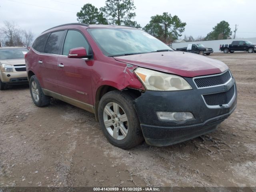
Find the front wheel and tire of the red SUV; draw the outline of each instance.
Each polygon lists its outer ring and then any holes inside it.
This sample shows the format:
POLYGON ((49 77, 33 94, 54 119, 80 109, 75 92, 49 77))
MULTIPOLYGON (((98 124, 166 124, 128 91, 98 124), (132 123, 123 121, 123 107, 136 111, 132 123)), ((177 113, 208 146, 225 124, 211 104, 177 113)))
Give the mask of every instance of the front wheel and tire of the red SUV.
POLYGON ((130 149, 143 141, 133 98, 117 90, 106 93, 99 103, 99 122, 108 141, 119 148, 130 149))

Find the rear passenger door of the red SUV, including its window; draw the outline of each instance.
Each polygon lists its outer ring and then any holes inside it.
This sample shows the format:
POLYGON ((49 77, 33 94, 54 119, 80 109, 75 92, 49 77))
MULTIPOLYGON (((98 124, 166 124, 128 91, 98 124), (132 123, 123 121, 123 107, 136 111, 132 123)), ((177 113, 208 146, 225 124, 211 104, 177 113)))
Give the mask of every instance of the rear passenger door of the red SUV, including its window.
POLYGON ((50 33, 46 41, 44 53, 38 56, 43 88, 56 93, 59 93, 57 59, 60 54, 63 36, 64 30, 50 33))

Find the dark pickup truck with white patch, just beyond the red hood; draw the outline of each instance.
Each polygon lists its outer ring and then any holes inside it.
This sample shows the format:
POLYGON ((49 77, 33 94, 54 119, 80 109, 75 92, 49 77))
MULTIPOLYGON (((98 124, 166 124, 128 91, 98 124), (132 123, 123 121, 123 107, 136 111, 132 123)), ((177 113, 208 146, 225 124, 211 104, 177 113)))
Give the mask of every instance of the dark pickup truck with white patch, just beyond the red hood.
POLYGON ((187 47, 177 48, 176 51, 184 51, 200 55, 210 55, 211 53, 213 53, 212 48, 207 48, 202 44, 188 44, 187 47))

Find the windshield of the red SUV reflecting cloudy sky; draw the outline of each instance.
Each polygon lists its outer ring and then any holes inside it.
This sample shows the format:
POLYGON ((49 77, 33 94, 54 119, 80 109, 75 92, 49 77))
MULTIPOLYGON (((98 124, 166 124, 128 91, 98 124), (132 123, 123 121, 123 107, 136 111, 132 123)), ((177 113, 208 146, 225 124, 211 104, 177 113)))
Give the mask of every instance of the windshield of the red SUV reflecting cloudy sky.
POLYGON ((156 51, 173 51, 157 38, 138 29, 88 29, 106 56, 121 56, 156 51))

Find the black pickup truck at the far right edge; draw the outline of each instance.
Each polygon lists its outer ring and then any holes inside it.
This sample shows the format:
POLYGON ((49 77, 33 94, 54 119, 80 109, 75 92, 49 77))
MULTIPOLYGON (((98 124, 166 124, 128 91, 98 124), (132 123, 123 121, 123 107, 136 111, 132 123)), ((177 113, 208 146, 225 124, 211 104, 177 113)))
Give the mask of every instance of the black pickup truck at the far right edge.
POLYGON ((250 41, 233 41, 231 44, 220 44, 220 51, 234 53, 235 51, 248 51, 256 53, 256 44, 250 41))

